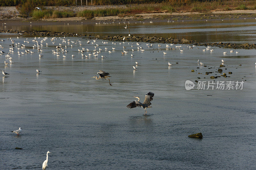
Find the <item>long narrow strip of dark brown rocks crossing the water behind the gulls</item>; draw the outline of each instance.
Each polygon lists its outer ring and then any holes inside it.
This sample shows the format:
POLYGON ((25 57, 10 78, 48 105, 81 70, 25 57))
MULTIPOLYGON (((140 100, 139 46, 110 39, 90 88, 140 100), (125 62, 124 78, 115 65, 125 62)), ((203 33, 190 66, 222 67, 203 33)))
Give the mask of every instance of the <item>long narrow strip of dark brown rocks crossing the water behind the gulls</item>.
POLYGON ((133 42, 148 42, 148 43, 165 43, 165 44, 193 44, 196 46, 216 46, 220 48, 234 48, 234 49, 256 49, 256 44, 232 44, 232 43, 200 43, 196 40, 188 40, 188 39, 174 39, 172 37, 162 38, 162 37, 147 37, 147 36, 91 36, 86 34, 77 34, 77 33, 66 33, 66 32, 50 32, 50 31, 18 31, 18 30, 0 30, 0 33, 14 33, 14 34, 23 34, 23 35, 32 35, 32 36, 40 36, 40 37, 82 37, 88 39, 102 39, 109 41, 133 41, 133 42))

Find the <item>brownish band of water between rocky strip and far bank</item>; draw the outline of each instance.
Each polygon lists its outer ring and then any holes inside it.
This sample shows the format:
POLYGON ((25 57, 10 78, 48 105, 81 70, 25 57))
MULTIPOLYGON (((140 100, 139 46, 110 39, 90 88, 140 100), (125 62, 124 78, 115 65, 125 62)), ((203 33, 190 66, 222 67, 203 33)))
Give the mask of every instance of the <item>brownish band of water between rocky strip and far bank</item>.
MULTIPOLYGON (((131 21, 129 29, 131 35, 143 35, 143 36, 158 36, 158 37, 173 37, 177 39, 196 40, 199 42, 230 42, 230 43, 255 43, 256 38, 256 20, 253 18, 245 19, 214 19, 214 20, 177 20, 170 22, 164 20, 158 20, 158 22, 150 23, 150 20, 146 21, 131 21), (217 29, 217 34, 216 34, 217 29)), ((111 21, 99 21, 99 24, 95 24, 92 21, 90 24, 84 24, 85 21, 69 22, 62 21, 56 23, 50 23, 45 21, 32 21, 31 23, 24 22, 10 22, 7 24, 1 24, 1 30, 48 30, 54 32, 76 32, 83 34, 94 35, 128 35, 128 28, 124 29, 124 26, 128 26, 128 21, 116 20, 111 21), (120 23, 120 24, 119 24, 120 23), (68 25, 69 24, 69 25, 68 25)))

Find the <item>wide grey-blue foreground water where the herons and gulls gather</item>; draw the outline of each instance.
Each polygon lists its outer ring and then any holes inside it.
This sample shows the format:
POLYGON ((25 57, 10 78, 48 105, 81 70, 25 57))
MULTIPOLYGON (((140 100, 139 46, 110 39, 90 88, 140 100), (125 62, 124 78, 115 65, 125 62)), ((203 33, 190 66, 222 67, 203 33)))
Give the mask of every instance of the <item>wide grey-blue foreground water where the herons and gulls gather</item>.
MULTIPOLYGON (((145 49, 141 52, 136 50, 136 43, 131 47, 131 42, 113 45, 97 40, 100 48, 108 50, 86 59, 77 49, 88 48, 90 52, 85 54, 92 53, 95 44, 80 39, 82 46, 67 45, 69 52, 63 59, 63 54, 58 58, 52 53, 61 40, 57 38, 50 46, 48 38, 45 42, 49 46, 43 43, 44 56, 39 59, 40 52, 32 49, 33 38, 28 38, 28 44, 23 42, 26 38, 16 37, 16 43, 25 44, 35 53, 19 57, 19 46, 15 46, 10 54, 15 63, 6 67, 2 64, 10 75, 2 77, 0 89, 1 168, 42 168, 48 150, 52 152, 49 169, 256 168, 255 50, 229 53, 231 49, 213 47, 213 52, 203 52, 203 46, 188 49, 183 45, 184 52, 180 53, 177 48, 166 50, 164 44, 160 51, 157 44, 148 48, 141 43, 145 49), (113 46, 116 49, 108 53, 113 46), (129 53, 122 56, 123 46, 129 53), (101 59, 101 55, 106 58, 101 59), (207 67, 199 66, 198 59, 207 67), (246 80, 242 90, 185 89, 186 80, 212 81, 211 74, 204 74, 206 71, 220 75, 215 71, 221 59, 226 60, 224 73, 233 74, 215 81, 246 80), (141 63, 136 71, 132 68, 135 61, 141 63), (42 74, 36 74, 36 69, 42 74), (90 78, 98 70, 110 73, 113 86, 90 78), (148 116, 143 116, 142 108, 126 108, 133 96, 143 100, 149 91, 155 96, 152 108, 147 109, 148 116), (10 132, 19 127, 23 128, 20 136, 10 132), (204 138, 188 138, 197 132, 202 132, 204 138)), ((3 51, 8 52, 10 40, 2 39, 6 40, 0 41, 3 51)), ((0 63, 4 60, 3 54, 0 63)))

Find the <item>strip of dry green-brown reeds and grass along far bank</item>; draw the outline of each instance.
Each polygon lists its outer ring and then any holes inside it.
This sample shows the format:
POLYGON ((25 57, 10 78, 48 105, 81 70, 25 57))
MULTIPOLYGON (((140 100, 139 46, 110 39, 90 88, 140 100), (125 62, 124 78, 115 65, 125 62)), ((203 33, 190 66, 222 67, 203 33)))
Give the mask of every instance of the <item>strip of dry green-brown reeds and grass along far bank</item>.
MULTIPOLYGON (((67 0, 68 1, 68 0, 67 0)), ((256 9, 256 0, 252 1, 192 1, 188 4, 172 4, 161 2, 158 4, 127 5, 125 8, 108 8, 96 10, 84 10, 79 12, 54 11, 54 10, 34 10, 36 6, 33 0, 29 0, 20 7, 20 13, 31 15, 35 19, 39 18, 66 18, 66 17, 106 17, 106 16, 127 16, 139 13, 153 12, 209 12, 211 10, 248 10, 256 9), (33 10, 33 11, 32 11, 33 10), (32 12, 31 12, 32 11, 32 12)), ((96 1, 98 2, 98 1, 96 1)), ((102 1, 103 2, 103 1, 102 1)), ((105 1, 104 1, 105 2, 105 1)), ((114 2, 114 1, 113 1, 114 2)), ((125 1, 126 2, 126 1, 125 1)), ((142 1, 140 1, 142 2, 142 1)), ((151 2, 151 1, 148 1, 151 2)), ((121 3, 122 4, 122 3, 121 3)))

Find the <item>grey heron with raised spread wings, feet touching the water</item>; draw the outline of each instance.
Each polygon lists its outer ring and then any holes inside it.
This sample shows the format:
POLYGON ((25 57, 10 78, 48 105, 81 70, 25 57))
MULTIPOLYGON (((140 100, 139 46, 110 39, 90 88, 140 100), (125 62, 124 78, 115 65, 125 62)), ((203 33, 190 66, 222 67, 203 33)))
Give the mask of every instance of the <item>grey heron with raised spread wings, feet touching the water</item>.
MULTIPOLYGON (((133 96, 135 97, 135 96, 133 96)), ((150 101, 153 100, 153 97, 154 97, 154 93, 152 92, 148 92, 148 94, 145 96, 145 99, 144 99, 144 102, 143 103, 140 103, 140 97, 135 97, 137 99, 139 99, 138 101, 133 101, 132 103, 128 104, 126 107, 132 109, 132 108, 135 108, 135 107, 143 107, 143 109, 145 110, 145 113, 143 115, 146 115, 148 113, 147 109, 146 108, 150 108, 150 101)))

